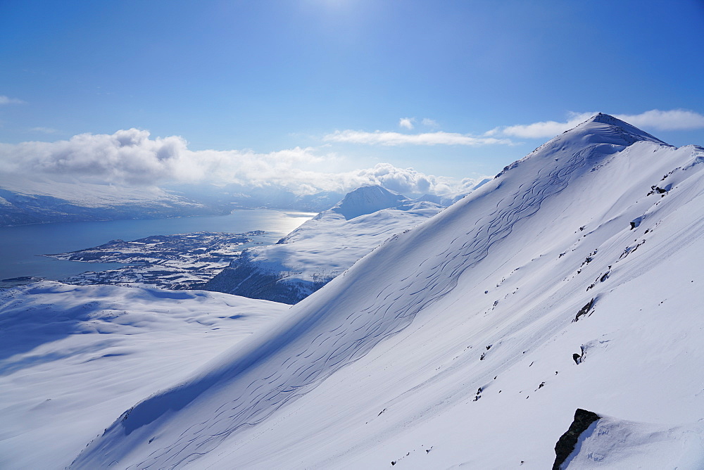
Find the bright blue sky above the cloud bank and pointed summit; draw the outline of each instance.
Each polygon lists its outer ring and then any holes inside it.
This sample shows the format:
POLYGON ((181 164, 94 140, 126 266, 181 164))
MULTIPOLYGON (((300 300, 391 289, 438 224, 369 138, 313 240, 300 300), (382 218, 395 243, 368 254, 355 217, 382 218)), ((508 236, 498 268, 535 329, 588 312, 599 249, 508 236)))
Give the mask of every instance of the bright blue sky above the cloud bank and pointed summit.
POLYGON ((688 0, 3 1, 0 142, 136 128, 458 179, 596 111, 704 144, 703 30, 688 0))

